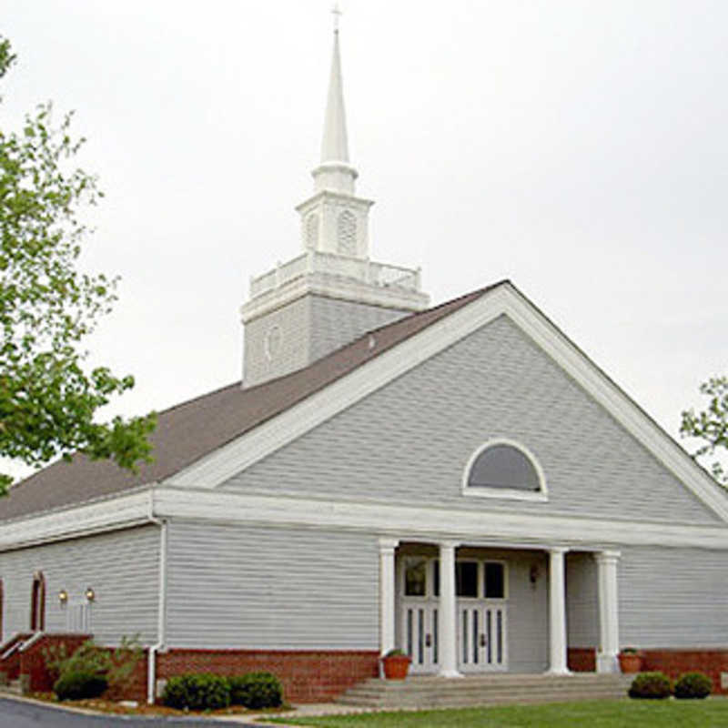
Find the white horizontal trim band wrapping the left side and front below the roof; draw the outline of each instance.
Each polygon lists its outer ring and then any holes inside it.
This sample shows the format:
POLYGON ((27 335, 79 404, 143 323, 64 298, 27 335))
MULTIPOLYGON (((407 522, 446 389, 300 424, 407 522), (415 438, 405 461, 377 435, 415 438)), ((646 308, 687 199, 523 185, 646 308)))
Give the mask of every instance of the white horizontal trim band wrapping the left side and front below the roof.
POLYGON ((586 551, 602 551, 614 545, 728 551, 728 528, 724 526, 480 512, 174 487, 150 488, 8 522, 0 530, 0 551, 158 523, 164 518, 359 531, 397 541, 457 541, 469 546, 548 549, 558 543, 586 551))

